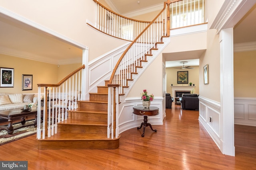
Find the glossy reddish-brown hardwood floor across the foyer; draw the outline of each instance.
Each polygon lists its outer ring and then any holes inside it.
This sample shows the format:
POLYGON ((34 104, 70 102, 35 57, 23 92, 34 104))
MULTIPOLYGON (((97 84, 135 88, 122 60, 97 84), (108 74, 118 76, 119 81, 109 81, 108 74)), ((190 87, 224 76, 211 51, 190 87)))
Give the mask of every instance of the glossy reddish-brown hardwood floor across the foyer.
POLYGON ((235 125, 236 156, 227 156, 198 115, 173 103, 157 132, 129 129, 114 150, 38 150, 32 135, 0 146, 0 160, 28 160, 29 170, 256 170, 256 127, 235 125))

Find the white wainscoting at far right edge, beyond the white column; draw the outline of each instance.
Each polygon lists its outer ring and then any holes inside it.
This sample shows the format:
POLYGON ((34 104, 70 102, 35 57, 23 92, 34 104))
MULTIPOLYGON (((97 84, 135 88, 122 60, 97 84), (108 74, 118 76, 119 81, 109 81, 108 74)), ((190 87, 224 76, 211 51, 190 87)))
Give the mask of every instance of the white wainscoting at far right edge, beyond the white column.
POLYGON ((256 98, 234 98, 234 123, 256 126, 256 98))

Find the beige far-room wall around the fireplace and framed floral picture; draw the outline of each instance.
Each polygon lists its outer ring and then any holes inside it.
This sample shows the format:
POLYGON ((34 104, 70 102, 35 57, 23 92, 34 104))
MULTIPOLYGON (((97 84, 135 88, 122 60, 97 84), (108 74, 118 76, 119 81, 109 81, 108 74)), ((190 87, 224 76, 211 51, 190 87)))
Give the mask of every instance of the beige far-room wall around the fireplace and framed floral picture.
MULTIPOLYGON (((172 94, 172 87, 173 86, 188 86, 189 84, 177 84, 177 71, 188 71, 188 83, 192 82, 195 84, 195 92, 196 94, 199 94, 199 66, 192 66, 194 69, 184 69, 184 70, 178 70, 175 68, 166 68, 166 75, 167 75, 167 93, 172 94)), ((172 96, 174 97, 174 96, 172 96)))

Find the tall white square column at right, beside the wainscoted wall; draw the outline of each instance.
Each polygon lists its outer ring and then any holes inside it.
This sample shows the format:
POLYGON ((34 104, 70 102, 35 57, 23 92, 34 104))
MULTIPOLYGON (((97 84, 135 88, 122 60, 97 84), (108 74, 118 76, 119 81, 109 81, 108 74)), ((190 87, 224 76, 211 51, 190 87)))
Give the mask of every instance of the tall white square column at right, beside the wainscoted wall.
POLYGON ((233 28, 220 31, 220 150, 235 156, 233 28))

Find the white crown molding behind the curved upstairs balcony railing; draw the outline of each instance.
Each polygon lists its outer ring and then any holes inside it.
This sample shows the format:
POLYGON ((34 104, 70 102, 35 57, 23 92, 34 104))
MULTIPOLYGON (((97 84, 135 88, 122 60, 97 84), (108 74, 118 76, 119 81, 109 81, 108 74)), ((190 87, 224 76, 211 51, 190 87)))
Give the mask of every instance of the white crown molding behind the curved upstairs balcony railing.
POLYGON ((139 15, 142 15, 142 14, 147 14, 148 12, 162 10, 163 8, 164 8, 163 7, 163 3, 160 3, 160 4, 153 5, 153 6, 149 6, 147 8, 141 8, 140 10, 135 10, 135 11, 132 11, 132 12, 127 12, 127 13, 124 13, 122 15, 126 16, 128 18, 131 18, 131 17, 134 17, 134 16, 139 16, 139 15))

